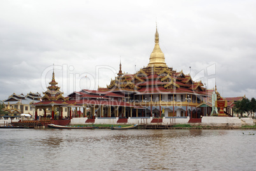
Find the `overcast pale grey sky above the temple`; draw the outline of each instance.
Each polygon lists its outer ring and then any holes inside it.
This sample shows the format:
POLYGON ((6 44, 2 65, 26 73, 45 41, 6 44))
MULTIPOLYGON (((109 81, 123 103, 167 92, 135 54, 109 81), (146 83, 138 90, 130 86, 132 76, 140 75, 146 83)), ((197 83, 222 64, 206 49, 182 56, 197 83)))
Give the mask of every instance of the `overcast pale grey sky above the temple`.
POLYGON ((106 87, 149 62, 155 26, 166 64, 224 97, 256 97, 256 1, 0 1, 0 99, 106 87), (85 78, 85 76, 87 76, 85 78))

